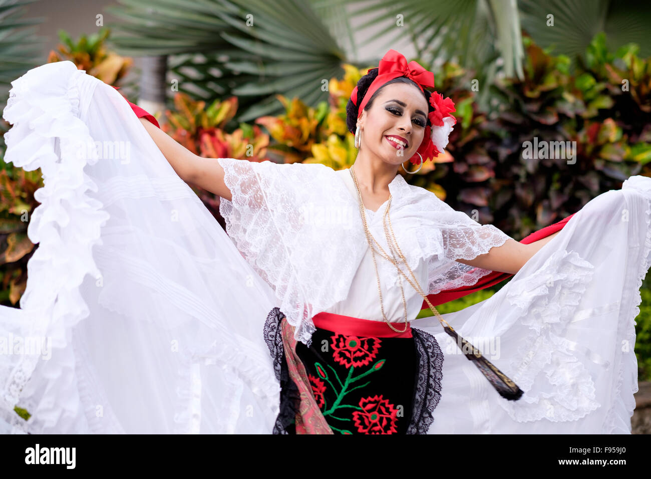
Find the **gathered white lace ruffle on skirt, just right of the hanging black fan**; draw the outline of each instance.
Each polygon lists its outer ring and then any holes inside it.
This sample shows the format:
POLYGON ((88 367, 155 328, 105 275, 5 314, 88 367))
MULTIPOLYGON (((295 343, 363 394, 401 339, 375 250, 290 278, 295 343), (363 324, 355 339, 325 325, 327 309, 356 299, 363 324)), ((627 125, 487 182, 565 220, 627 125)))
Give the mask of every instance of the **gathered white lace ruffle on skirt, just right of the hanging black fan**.
POLYGON ((518 349, 521 359, 512 361, 509 374, 525 393, 518 403, 500 401, 514 420, 573 421, 599 407, 592 377, 563 340, 593 269, 576 252, 558 250, 538 274, 510 285, 506 298, 519 309, 519 321, 530 330, 518 349), (553 392, 528 394, 542 373, 553 392))

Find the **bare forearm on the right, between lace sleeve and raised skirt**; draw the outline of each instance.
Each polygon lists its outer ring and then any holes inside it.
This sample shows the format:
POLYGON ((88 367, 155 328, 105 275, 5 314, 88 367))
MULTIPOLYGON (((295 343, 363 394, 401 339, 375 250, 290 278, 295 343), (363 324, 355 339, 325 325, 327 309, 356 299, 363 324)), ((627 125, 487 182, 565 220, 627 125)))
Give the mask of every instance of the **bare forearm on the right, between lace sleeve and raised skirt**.
POLYGON ((514 239, 508 239, 502 246, 491 248, 486 254, 478 255, 469 260, 457 259, 456 261, 464 263, 464 265, 482 269, 516 274, 540 248, 560 232, 557 231, 553 235, 549 235, 530 244, 523 244, 514 239))

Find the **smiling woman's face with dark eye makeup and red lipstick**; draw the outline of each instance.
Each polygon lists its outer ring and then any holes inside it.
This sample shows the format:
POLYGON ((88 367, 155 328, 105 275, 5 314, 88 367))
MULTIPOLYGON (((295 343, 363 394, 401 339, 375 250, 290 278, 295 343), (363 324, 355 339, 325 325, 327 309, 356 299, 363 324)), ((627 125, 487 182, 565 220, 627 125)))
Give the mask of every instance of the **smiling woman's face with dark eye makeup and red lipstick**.
POLYGON ((386 85, 357 120, 361 149, 399 166, 421 145, 427 124, 428 105, 422 92, 408 83, 386 85), (393 139, 391 139, 393 137, 393 139), (402 140, 404 145, 399 141, 402 140))

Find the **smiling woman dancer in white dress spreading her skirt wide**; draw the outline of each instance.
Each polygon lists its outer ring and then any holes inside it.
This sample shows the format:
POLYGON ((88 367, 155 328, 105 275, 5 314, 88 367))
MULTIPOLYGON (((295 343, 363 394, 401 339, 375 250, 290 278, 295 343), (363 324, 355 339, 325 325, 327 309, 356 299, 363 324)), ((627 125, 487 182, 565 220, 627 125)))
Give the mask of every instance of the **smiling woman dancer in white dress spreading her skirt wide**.
POLYGON ((53 344, 44 361, 3 357, 5 421, 30 432, 630 432, 651 181, 631 177, 555 237, 518 243, 396 175, 445 147, 427 130, 449 133, 451 115, 426 92, 430 72, 393 50, 383 61, 353 92, 360 150, 342 171, 199 158, 70 62, 12 82, 6 160, 41 167, 46 186, 27 291, 21 310, 2 308, 3 331, 53 344), (222 197, 230 239, 186 182, 222 197), (468 361, 438 316, 410 324, 424 295, 492 270, 515 276, 442 317, 506 381, 468 361), (508 380, 513 400, 499 390, 508 380), (33 414, 26 424, 16 404, 33 414))

